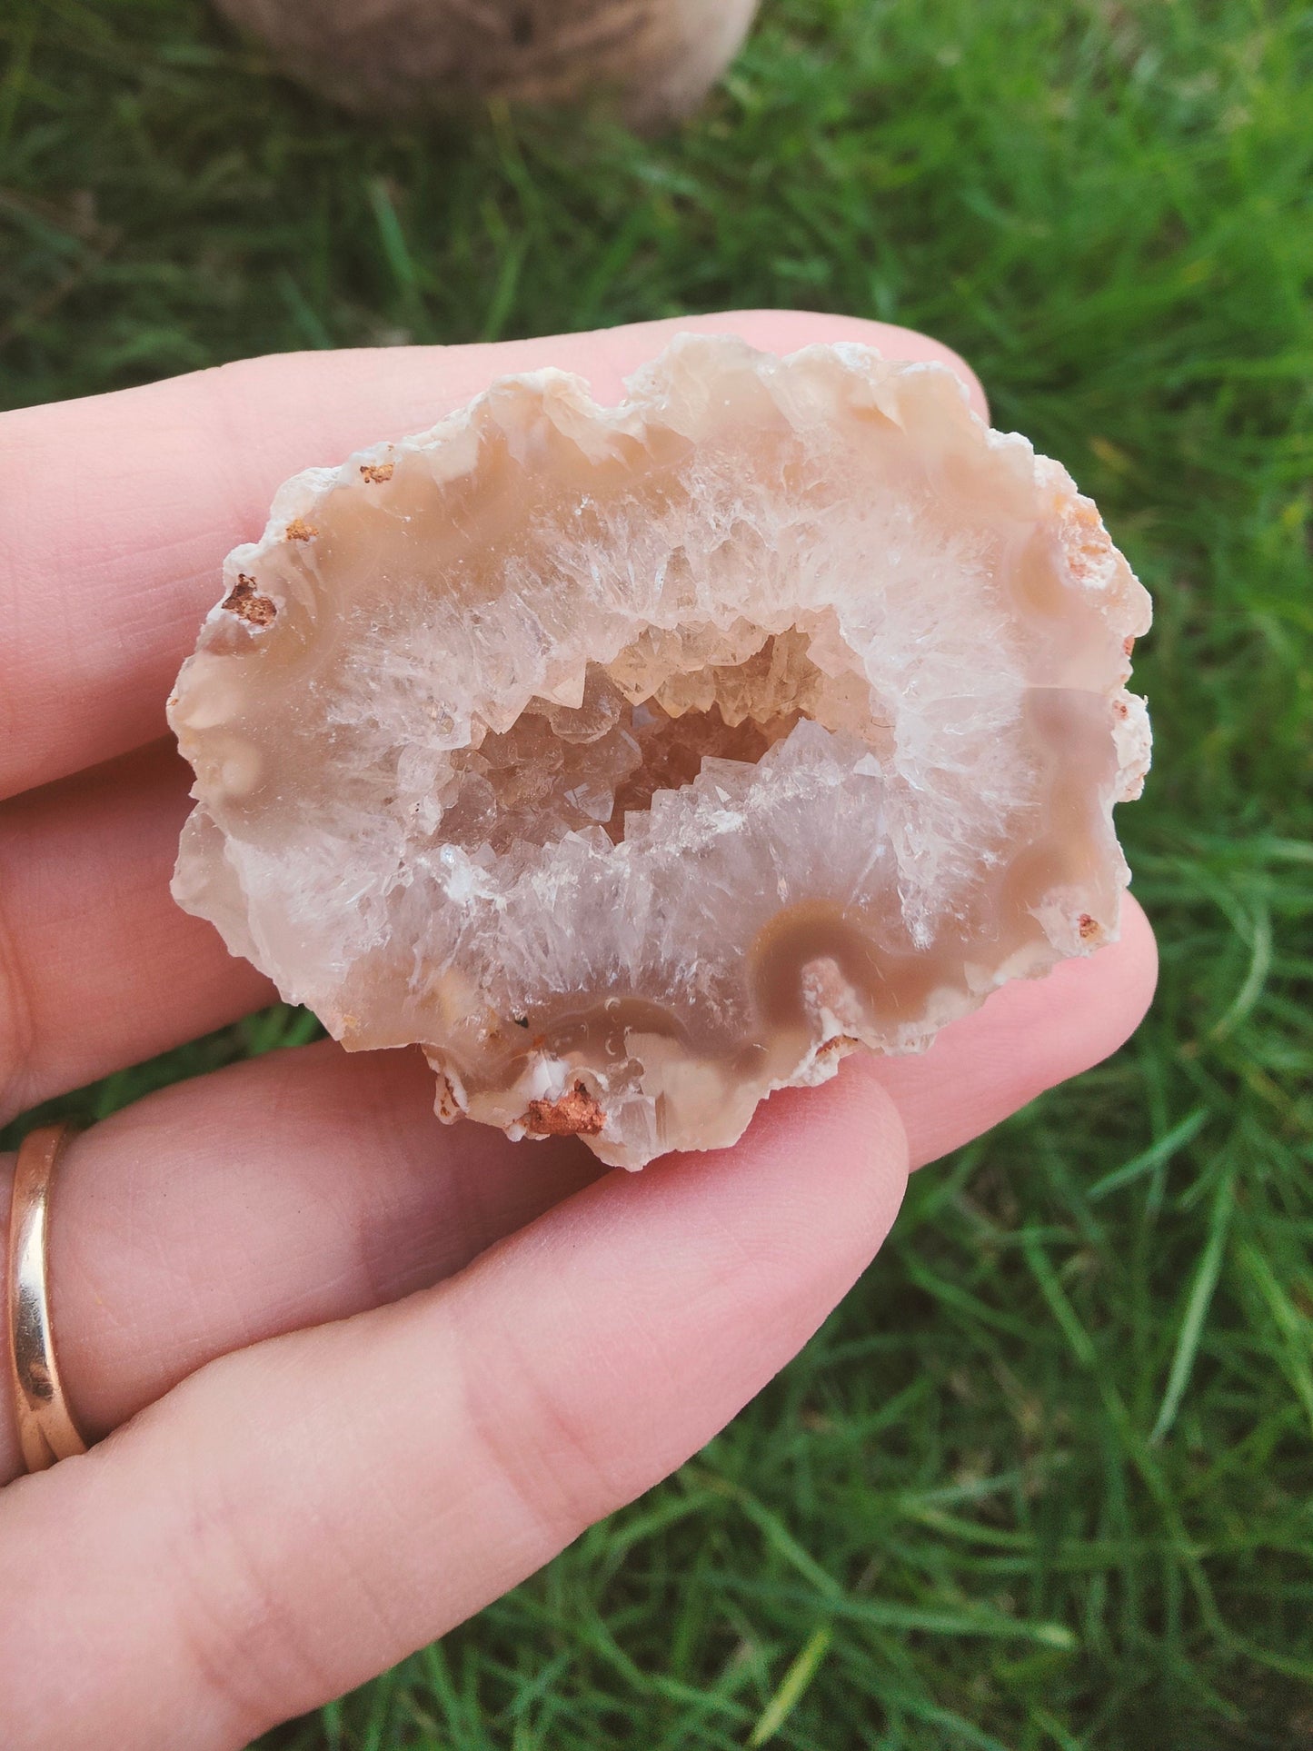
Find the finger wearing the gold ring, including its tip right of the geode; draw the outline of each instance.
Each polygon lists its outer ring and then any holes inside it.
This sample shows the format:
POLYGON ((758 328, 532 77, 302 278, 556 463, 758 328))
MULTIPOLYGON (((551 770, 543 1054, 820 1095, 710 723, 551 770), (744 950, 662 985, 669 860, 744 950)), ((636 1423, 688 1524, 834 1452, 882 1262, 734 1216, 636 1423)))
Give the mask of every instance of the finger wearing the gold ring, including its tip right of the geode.
MULTIPOLYGON (((1119 944, 1007 986, 921 1059, 853 1061, 844 1079, 884 1086, 921 1164, 1113 1051, 1152 986, 1127 900, 1119 944)), ((215 1355, 450 1276, 597 1173, 574 1142, 445 1129, 417 1052, 322 1042, 163 1089, 60 1166, 51 1285, 74 1411, 103 1434, 215 1355)), ((0 1233, 7 1187, 0 1161, 0 1233)), ((0 1397, 4 1481, 18 1438, 0 1397)))

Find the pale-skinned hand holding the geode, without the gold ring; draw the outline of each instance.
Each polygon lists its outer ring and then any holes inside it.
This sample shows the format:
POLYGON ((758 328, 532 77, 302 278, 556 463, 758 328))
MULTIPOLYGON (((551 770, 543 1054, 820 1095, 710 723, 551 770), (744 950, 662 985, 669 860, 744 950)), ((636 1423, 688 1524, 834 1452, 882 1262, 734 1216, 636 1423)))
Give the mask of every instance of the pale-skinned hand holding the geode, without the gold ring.
MULTIPOLYGON (((257 359, 0 417, 0 1122, 275 995, 170 900, 191 774, 163 720, 273 489, 504 371, 613 399, 678 327, 942 359, 986 410, 924 336, 755 312, 257 359)), ((18 1476, 0 1376, 5 1746, 238 1747, 478 1611, 697 1452, 867 1268, 909 1170, 1105 1058, 1154 975, 1127 898, 1120 942, 924 1058, 851 1059, 735 1149, 639 1175, 445 1129, 417 1054, 331 1042, 84 1133, 51 1292, 98 1445, 18 1476)))

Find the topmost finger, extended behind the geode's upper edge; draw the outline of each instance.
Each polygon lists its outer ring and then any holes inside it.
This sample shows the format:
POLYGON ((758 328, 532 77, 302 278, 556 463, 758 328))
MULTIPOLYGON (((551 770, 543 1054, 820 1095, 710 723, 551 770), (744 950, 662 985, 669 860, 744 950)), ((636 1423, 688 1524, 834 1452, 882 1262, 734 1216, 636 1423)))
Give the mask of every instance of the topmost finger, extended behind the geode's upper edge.
POLYGON ((910 329, 795 310, 639 322, 593 334, 249 359, 145 389, 0 415, 0 797, 166 732, 165 699, 219 595, 219 567, 303 468, 424 431, 494 376, 548 364, 600 401, 681 329, 770 352, 860 340, 966 364, 910 329))

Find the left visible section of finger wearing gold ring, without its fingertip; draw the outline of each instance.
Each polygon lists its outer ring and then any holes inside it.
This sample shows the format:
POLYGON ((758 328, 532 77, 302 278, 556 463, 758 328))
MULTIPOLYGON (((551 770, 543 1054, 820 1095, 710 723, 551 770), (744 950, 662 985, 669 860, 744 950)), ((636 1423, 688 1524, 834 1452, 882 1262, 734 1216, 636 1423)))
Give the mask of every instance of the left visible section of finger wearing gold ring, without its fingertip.
MULTIPOLYGON (((448 1276, 599 1171, 571 1140, 445 1128, 418 1052, 326 1040, 138 1101, 67 1145, 53 1196, 53 1324, 82 1434, 215 1355, 448 1276)), ((21 1462, 0 1399, 4 1483, 21 1462)))

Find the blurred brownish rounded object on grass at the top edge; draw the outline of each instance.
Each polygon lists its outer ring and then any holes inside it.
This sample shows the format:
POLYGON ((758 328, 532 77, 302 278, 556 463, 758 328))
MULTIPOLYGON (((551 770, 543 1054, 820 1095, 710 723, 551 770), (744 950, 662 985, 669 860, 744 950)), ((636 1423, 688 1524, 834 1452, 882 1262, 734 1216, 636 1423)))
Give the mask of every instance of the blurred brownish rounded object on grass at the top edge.
POLYGON ((609 102, 635 128, 697 109, 758 0, 215 0, 303 84, 359 112, 609 102))

